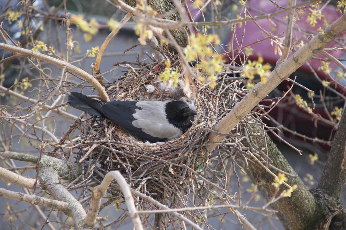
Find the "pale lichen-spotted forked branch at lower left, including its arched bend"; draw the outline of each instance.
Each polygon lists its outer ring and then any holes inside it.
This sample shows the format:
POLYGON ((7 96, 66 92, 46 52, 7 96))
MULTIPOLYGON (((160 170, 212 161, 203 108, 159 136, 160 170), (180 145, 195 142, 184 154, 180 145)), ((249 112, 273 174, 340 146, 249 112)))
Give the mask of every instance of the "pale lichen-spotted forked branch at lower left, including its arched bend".
MULTIPOLYGON (((38 157, 16 152, 0 152, 0 156, 34 163, 36 163, 38 160, 38 157)), ((26 195, 24 193, 12 192, 6 189, 0 189, 0 196, 58 209, 63 211, 66 215, 72 217, 77 229, 84 229, 85 227, 92 228, 96 222, 100 210, 101 198, 104 196, 104 194, 106 194, 111 181, 115 179, 124 194, 128 212, 135 225, 135 229, 144 229, 138 216, 130 188, 119 171, 107 173, 101 184, 92 190, 92 200, 88 214, 86 214, 80 202, 78 202, 78 200, 76 200, 72 194, 61 185, 58 179, 59 177, 69 175, 69 177, 65 179, 73 180, 77 178, 80 173, 80 165, 77 163, 67 164, 65 161, 56 159, 54 157, 42 156, 38 174, 40 185, 47 190, 54 197, 54 199, 56 199, 56 201, 38 196, 26 195)), ((19 176, 18 174, 1 167, 0 178, 29 189, 33 189, 35 184, 34 179, 19 176)))

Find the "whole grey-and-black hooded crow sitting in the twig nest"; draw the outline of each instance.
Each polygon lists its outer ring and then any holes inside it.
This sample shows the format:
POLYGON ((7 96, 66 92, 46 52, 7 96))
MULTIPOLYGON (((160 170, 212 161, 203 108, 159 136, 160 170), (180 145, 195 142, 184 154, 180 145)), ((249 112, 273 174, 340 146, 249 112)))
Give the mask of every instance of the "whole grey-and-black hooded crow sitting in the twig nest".
POLYGON ((180 137, 197 113, 182 101, 101 102, 71 92, 70 106, 113 121, 135 138, 152 143, 180 137))

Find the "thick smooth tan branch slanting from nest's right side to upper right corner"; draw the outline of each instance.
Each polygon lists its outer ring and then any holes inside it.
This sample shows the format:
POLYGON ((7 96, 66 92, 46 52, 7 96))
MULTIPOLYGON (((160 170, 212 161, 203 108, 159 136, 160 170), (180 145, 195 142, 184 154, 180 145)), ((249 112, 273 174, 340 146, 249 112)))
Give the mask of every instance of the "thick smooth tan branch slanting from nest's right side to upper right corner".
MULTIPOLYGON (((252 90, 246 94, 242 100, 237 103, 215 127, 220 133, 229 133, 245 116, 251 111, 258 102, 260 102, 268 93, 270 93, 283 80, 287 79, 291 73, 297 70, 315 53, 320 52, 329 42, 340 33, 346 31, 346 14, 338 18, 330 26, 325 28, 325 34, 317 34, 307 44, 295 52, 288 60, 282 62, 267 77, 265 84, 259 82, 252 90)), ((218 143, 224 137, 216 133, 210 133, 208 136, 210 143, 218 143)), ((208 151, 211 152, 216 146, 211 145, 208 151)))

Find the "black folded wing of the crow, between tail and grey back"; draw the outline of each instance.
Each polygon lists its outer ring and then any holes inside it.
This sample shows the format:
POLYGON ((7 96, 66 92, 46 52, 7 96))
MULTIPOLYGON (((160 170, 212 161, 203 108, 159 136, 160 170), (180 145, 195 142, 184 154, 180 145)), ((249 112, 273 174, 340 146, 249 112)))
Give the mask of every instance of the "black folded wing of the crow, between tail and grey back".
POLYGON ((126 129, 134 137, 150 142, 166 141, 166 138, 153 137, 142 131, 142 129, 133 126, 132 122, 136 120, 133 114, 136 113, 136 109, 142 110, 142 108, 136 106, 138 101, 111 101, 104 103, 101 106, 104 117, 113 121, 118 126, 126 129))

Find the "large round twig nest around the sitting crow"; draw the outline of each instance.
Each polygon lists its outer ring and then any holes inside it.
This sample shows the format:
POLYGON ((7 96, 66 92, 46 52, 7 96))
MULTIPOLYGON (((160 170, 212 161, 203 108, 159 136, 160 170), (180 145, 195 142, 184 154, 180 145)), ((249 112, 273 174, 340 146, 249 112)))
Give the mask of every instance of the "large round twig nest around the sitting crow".
MULTIPOLYGON (((182 72, 179 58, 170 59, 172 67, 182 72)), ((201 147, 208 132, 234 106, 239 91, 245 90, 239 89, 239 81, 226 72, 218 74, 220 83, 213 89, 208 83, 184 77, 173 88, 159 79, 159 73, 165 68, 162 60, 138 61, 136 65, 123 67, 128 71, 119 80, 104 84, 111 100, 170 99, 193 103, 198 113, 193 125, 179 138, 164 143, 143 143, 111 121, 87 115, 88 119, 75 121, 67 132, 68 139, 77 139, 71 143, 76 161, 84 165, 85 172, 96 183, 108 171, 119 170, 132 188, 147 194, 158 194, 163 188, 177 193, 190 190, 196 173, 206 177, 203 160, 198 157, 203 155, 201 147), (190 88, 184 82, 189 82, 190 88), (80 138, 73 132, 76 129, 81 133, 80 138)), ((117 193, 116 184, 112 188, 117 193)))

